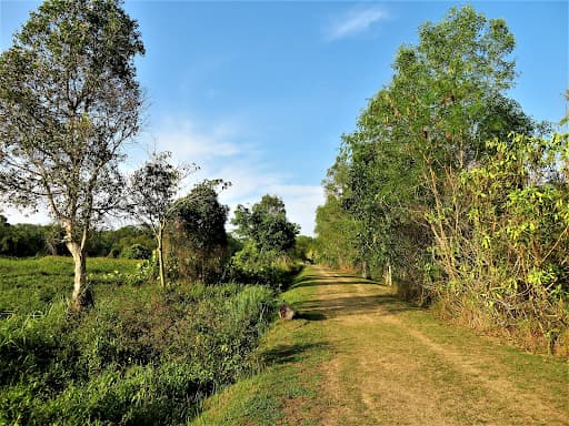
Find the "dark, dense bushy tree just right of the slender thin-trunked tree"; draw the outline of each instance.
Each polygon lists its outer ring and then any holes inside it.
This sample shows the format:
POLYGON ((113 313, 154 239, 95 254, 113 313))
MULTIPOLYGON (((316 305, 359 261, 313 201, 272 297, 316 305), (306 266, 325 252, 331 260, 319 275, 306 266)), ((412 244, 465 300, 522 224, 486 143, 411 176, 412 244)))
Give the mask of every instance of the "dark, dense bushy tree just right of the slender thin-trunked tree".
POLYGON ((229 207, 218 200, 218 189, 228 182, 204 181, 172 206, 169 234, 179 271, 189 278, 211 282, 227 258, 226 222, 229 207))

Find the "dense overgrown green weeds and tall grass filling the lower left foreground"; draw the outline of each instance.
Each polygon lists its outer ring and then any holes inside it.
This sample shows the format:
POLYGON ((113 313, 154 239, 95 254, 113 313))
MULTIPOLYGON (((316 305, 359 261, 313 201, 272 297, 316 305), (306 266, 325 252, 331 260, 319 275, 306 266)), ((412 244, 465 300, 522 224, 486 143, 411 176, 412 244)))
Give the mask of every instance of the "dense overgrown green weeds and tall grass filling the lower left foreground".
MULTIPOLYGON (((0 424, 180 424, 250 368, 273 293, 121 286, 96 308, 0 321, 0 424)), ((102 298, 102 300, 101 300, 102 298)))

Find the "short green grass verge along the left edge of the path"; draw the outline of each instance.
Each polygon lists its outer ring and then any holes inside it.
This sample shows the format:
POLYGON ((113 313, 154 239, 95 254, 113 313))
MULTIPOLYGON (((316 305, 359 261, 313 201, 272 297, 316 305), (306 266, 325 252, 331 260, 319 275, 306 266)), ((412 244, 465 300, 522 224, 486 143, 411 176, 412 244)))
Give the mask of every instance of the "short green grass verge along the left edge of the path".
MULTIPOLYGON (((292 306, 310 298, 317 288, 310 274, 305 270, 281 298, 292 306)), ((315 320, 279 320, 256 353, 258 374, 208 398, 202 415, 189 425, 268 426, 291 416, 298 425, 316 425, 308 403, 319 392, 318 366, 331 354, 315 320)))

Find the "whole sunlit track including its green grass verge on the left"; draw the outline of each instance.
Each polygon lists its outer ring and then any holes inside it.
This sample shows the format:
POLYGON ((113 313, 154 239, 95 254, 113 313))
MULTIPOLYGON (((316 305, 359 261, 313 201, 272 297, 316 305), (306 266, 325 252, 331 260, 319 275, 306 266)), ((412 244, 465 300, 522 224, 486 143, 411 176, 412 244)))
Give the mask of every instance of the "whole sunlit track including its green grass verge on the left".
POLYGON ((390 287, 308 267, 283 297, 268 364, 204 404, 196 424, 567 425, 569 365, 399 302, 390 287))

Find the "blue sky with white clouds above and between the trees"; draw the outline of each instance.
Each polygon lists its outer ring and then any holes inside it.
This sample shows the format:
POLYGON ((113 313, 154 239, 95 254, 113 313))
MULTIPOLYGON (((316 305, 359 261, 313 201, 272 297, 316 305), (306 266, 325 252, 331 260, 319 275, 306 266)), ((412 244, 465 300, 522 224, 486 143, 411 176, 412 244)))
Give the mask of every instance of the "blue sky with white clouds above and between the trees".
MULTIPOLYGON (((0 49, 38 1, 0 1, 0 49)), ((136 169, 152 144, 196 162, 191 179, 233 183, 230 206, 264 193, 312 234, 320 187, 340 135, 391 77, 402 43, 458 2, 192 2, 127 0, 147 54, 137 60, 147 124, 129 148, 136 169)), ((568 81, 568 2, 471 2, 505 18, 520 73, 510 95, 539 120, 558 121, 568 81)), ((191 182, 188 183, 188 187, 191 182)), ((9 221, 46 221, 40 214, 9 221)))

